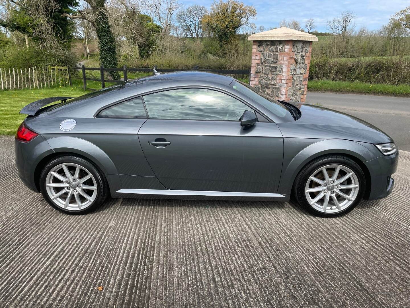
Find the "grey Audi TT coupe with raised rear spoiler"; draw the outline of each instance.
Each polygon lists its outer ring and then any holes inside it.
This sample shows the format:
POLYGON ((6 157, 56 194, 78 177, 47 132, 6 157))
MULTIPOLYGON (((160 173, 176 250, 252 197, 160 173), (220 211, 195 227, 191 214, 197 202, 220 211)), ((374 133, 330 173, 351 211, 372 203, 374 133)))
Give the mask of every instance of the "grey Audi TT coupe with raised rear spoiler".
POLYGON ((360 119, 277 101, 232 77, 155 74, 25 106, 22 181, 81 214, 108 196, 287 201, 335 217, 392 191, 398 150, 360 119), (50 102, 59 101, 51 106, 50 102))

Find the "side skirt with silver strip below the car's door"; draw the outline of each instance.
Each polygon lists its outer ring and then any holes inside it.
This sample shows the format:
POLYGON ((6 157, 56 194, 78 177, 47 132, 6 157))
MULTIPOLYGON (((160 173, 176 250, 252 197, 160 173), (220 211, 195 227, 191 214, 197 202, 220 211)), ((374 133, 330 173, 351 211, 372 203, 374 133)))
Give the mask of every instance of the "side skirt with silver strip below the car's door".
POLYGON ((184 191, 170 189, 120 189, 113 198, 185 199, 185 200, 269 200, 288 201, 280 193, 242 193, 235 191, 184 191))

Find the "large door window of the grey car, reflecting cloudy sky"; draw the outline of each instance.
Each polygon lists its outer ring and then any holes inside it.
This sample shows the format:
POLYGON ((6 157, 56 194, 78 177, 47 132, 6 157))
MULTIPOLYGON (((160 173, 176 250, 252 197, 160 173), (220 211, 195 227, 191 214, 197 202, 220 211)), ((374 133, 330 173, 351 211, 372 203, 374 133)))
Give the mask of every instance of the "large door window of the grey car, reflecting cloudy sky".
POLYGON ((239 121, 245 110, 254 112, 237 99, 208 89, 178 89, 144 96, 152 119, 239 121))

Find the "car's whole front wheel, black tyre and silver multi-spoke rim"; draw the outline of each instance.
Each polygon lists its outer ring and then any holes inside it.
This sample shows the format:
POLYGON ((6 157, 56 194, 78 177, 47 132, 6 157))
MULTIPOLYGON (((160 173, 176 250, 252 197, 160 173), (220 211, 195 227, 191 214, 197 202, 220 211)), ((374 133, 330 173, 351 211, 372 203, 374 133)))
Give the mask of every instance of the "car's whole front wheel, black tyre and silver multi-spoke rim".
POLYGON ((351 158, 335 154, 321 156, 305 165, 294 182, 294 197, 298 203, 321 217, 348 213, 358 205, 365 190, 362 168, 351 158))

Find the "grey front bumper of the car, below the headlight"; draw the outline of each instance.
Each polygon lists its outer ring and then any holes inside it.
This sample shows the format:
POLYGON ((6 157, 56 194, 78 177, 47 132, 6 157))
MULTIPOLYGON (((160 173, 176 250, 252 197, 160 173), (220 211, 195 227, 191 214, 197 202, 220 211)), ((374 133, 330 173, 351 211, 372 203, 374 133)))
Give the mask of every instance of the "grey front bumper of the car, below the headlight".
POLYGON ((394 179, 391 175, 396 172, 399 163, 399 151, 393 155, 380 156, 365 162, 370 173, 370 189, 364 196, 367 200, 387 197, 393 190, 394 179))

